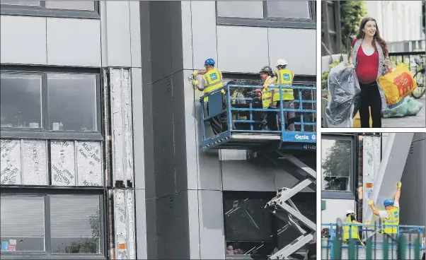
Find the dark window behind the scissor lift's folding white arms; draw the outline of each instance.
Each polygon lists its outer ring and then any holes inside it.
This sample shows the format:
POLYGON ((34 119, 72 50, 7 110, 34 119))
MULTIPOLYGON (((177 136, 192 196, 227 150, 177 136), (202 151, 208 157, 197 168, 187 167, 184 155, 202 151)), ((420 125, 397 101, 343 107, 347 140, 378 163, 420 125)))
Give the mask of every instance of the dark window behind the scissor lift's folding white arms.
MULTIPOLYGON (((265 208, 275 195, 275 192, 224 191, 226 251, 232 249, 234 254, 267 256, 275 248, 282 249, 300 236, 297 229, 265 208)), ((298 210, 314 223, 315 196, 315 192, 304 192, 292 197, 298 210)))

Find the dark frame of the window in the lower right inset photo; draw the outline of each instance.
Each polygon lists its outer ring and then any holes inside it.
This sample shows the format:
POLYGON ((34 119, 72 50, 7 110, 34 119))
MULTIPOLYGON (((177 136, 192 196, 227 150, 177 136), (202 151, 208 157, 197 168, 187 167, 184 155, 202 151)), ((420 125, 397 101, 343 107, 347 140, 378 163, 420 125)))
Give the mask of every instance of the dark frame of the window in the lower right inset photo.
MULTIPOLYGON (((321 166, 321 198, 323 199, 355 199, 355 176, 357 176, 357 165, 356 165, 356 141, 353 134, 323 134, 321 141, 333 140, 333 141, 350 141, 350 172, 349 172, 349 191, 338 191, 338 190, 325 190, 322 187, 323 182, 323 167, 321 166)), ((321 146, 321 163, 322 163, 322 146, 321 146)))

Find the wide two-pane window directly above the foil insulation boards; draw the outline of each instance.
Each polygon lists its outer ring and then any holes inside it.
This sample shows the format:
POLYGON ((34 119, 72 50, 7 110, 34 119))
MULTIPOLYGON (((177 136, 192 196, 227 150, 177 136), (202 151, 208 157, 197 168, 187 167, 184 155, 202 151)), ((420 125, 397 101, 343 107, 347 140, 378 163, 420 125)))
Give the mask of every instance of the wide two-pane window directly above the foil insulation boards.
POLYGON ((1 71, 1 137, 100 138, 98 73, 1 71), (28 133, 33 136, 28 136, 28 133), (11 134, 13 136, 11 136, 11 134), (97 137, 96 137, 97 136, 97 137))

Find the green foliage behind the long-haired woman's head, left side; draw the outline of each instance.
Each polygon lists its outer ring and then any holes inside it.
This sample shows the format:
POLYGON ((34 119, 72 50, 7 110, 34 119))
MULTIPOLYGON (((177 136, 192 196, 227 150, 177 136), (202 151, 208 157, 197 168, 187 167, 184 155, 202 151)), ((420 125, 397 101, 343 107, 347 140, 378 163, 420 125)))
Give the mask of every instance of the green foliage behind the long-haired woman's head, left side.
POLYGON ((352 40, 357 35, 359 23, 367 16, 364 1, 340 1, 340 28, 342 32, 342 51, 350 52, 352 40))

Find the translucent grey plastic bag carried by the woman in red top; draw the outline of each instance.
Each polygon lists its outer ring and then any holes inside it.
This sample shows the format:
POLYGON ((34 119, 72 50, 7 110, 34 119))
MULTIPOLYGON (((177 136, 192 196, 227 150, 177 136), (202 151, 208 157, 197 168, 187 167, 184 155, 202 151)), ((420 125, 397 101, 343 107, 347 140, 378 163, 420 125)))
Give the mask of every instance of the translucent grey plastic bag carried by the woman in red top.
POLYGON ((353 66, 342 62, 328 74, 330 101, 326 108, 329 127, 352 127, 353 118, 359 110, 359 82, 353 66))

